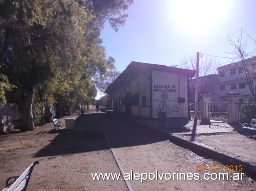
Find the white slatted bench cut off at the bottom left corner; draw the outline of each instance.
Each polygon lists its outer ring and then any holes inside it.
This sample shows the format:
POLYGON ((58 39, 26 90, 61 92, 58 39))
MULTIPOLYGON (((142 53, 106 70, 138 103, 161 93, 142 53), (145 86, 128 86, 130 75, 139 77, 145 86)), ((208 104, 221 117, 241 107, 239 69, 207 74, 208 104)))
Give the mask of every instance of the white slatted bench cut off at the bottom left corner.
POLYGON ((21 176, 12 176, 7 178, 5 181, 5 188, 2 191, 21 191, 26 190, 32 170, 36 164, 39 164, 39 161, 35 161, 31 164, 21 176))

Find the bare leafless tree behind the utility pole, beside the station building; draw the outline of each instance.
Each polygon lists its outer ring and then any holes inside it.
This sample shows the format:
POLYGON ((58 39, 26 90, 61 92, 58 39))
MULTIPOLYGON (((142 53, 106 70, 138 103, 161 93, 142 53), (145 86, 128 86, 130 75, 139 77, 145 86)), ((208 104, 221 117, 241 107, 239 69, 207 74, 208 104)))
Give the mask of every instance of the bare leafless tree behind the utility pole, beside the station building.
MULTIPOLYGON (((189 58, 185 57, 185 59, 181 60, 180 65, 185 69, 196 70, 196 62, 196 56, 190 56, 189 58)), ((199 60, 198 95, 211 94, 213 89, 217 86, 217 68, 220 65, 220 61, 201 55, 199 60)), ((195 78, 189 81, 189 88, 190 94, 195 95, 195 78)), ((194 99, 194 97, 191 96, 191 99, 194 99)))

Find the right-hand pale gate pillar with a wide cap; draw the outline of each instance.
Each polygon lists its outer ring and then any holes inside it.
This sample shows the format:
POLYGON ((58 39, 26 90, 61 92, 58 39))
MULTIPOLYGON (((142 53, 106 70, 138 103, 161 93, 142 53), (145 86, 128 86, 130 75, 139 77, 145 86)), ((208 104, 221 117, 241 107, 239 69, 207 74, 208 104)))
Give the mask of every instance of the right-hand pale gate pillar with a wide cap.
POLYGON ((242 98, 242 95, 237 92, 226 93, 225 97, 228 99, 227 101, 227 122, 238 123, 238 113, 239 113, 239 99, 242 98))

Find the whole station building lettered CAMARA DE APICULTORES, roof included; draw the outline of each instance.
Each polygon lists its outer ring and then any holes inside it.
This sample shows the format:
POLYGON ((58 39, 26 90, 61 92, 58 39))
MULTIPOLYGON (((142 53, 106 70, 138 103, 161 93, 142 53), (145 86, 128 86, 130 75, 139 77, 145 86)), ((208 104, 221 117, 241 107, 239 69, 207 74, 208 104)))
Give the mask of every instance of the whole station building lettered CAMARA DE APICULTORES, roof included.
POLYGON ((195 70, 131 62, 105 90, 116 112, 157 118, 189 117, 189 79, 195 70))

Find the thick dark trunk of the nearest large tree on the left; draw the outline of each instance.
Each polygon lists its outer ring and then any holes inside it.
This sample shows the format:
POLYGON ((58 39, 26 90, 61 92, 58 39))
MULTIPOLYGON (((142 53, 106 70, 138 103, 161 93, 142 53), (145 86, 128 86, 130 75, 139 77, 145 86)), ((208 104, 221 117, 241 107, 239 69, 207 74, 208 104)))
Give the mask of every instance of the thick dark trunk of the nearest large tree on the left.
POLYGON ((23 115, 22 115, 22 127, 21 131, 31 131, 35 129, 32 113, 32 103, 34 98, 33 91, 29 92, 25 90, 25 104, 23 106, 23 115))

